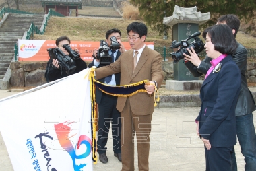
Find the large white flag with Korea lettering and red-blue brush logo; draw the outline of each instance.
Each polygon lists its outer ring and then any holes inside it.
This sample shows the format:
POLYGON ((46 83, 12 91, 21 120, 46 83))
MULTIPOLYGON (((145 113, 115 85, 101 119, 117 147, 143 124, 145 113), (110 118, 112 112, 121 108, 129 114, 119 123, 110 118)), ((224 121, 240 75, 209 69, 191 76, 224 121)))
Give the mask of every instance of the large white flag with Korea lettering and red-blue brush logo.
POLYGON ((92 170, 88 70, 0 100, 0 131, 14 170, 92 170))

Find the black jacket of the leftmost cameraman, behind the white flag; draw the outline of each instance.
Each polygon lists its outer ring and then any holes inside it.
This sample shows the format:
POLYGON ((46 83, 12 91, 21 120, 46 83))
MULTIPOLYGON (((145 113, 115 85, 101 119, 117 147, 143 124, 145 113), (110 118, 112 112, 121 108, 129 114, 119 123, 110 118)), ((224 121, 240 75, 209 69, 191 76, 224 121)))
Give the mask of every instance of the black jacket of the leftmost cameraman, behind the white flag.
POLYGON ((55 81, 57 79, 67 77, 69 75, 79 73, 80 71, 87 68, 86 62, 84 62, 82 59, 77 59, 75 60, 75 66, 76 66, 75 71, 73 71, 73 73, 67 74, 65 70, 57 69, 52 65, 52 63, 53 63, 52 59, 49 59, 49 61, 47 62, 46 71, 44 75, 47 81, 55 81))

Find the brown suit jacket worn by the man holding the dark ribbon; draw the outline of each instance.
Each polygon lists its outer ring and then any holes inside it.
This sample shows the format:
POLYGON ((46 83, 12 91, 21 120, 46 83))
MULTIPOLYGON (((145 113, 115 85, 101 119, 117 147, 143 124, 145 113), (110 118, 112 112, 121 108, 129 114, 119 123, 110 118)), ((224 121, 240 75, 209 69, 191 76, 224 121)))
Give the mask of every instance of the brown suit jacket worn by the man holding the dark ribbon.
MULTIPOLYGON (((121 86, 148 79, 149 81, 156 81, 159 88, 163 80, 161 61, 161 55, 146 46, 133 73, 133 50, 127 50, 121 54, 115 63, 97 68, 96 79, 120 72, 121 86)), ((154 96, 148 96, 146 92, 139 92, 129 98, 133 114, 147 115, 154 112, 154 96)), ((125 97, 117 99, 117 110, 119 112, 123 111, 126 100, 125 97)))

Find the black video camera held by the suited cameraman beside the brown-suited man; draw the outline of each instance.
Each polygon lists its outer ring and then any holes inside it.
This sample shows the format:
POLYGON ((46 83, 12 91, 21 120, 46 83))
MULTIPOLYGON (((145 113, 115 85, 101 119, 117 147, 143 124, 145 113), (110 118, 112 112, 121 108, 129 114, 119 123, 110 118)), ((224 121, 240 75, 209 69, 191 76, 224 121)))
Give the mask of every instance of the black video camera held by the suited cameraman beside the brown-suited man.
POLYGON ((100 40, 100 48, 96 54, 96 59, 100 60, 100 64, 109 65, 112 63, 112 57, 108 54, 109 49, 108 44, 104 40, 100 40))

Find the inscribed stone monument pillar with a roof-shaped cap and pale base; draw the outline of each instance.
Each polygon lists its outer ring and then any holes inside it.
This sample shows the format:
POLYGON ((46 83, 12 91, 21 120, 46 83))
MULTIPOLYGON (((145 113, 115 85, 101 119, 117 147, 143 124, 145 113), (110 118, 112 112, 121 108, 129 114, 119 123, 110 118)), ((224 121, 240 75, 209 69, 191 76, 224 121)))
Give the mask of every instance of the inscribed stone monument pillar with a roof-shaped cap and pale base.
MULTIPOLYGON (((199 25, 210 20, 210 13, 197 12, 197 7, 184 8, 175 5, 173 15, 164 18, 164 24, 172 26, 172 41, 181 42, 191 34, 198 32, 199 25)), ((193 42, 191 38, 188 43, 193 42)), ((195 90, 200 86, 198 78, 193 77, 189 69, 184 65, 183 59, 174 63, 174 80, 166 81, 166 88, 169 90, 195 90), (195 81, 191 81, 195 80, 195 81), (184 82, 185 81, 185 82, 184 82), (185 85, 185 86, 184 86, 185 85)), ((202 81, 199 81, 200 83, 202 81)))

